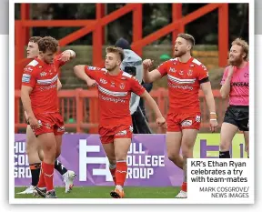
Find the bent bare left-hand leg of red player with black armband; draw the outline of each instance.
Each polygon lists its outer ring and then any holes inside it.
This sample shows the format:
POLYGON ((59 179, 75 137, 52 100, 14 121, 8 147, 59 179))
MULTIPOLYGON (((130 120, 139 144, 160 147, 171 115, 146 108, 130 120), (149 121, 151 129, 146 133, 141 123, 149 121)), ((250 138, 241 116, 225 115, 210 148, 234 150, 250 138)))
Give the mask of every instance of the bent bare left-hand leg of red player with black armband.
POLYGON ((179 154, 181 141, 181 132, 166 132, 166 149, 168 159, 171 160, 177 167, 183 169, 183 157, 179 154))

